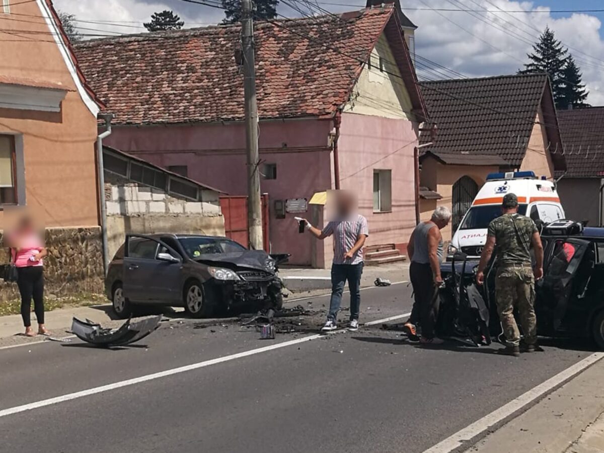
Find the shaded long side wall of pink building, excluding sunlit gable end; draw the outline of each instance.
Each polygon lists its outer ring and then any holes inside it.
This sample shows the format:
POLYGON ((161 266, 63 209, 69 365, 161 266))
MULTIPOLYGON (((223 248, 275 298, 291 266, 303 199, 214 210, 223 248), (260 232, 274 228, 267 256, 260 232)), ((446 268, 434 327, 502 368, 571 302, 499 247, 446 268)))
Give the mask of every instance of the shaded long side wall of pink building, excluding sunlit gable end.
MULTIPOLYGON (((315 264, 323 265, 323 250, 316 250, 308 234, 298 234, 294 216, 300 214, 277 219, 272 204, 278 199, 310 199, 315 191, 331 187, 328 144, 332 124, 331 120, 260 123, 260 159, 277 164, 277 179, 261 181, 263 193, 271 200, 271 250, 291 253, 294 265, 312 265, 313 254, 320 257, 315 264)), ((248 191, 242 123, 117 126, 105 143, 162 167, 187 165, 189 178, 230 195, 248 191)), ((310 211, 306 216, 311 216, 310 211)))

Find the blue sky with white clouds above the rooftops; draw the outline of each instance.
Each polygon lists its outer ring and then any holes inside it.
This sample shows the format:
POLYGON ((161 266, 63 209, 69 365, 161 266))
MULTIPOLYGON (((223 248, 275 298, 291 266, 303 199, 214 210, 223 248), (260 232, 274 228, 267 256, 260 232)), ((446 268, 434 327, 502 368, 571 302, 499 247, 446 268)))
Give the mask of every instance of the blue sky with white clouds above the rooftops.
MULTIPOLYGON (((315 0, 313 0, 315 1, 315 0)), ((303 0, 288 0, 308 10, 303 0)), ((316 0, 331 12, 356 10, 365 0, 316 0), (333 5, 341 4, 341 5, 333 5)), ((592 105, 604 105, 604 12, 556 13, 555 10, 604 10, 603 0, 400 0, 417 25, 417 70, 422 79, 514 74, 546 26, 573 54, 583 72, 592 105), (464 9, 473 11, 435 11, 464 9), (526 11, 525 13, 504 13, 526 11), (446 69, 443 69, 446 68, 446 69), (454 71, 454 72, 452 72, 454 71)), ((54 0, 57 9, 76 16, 81 33, 94 35, 141 33, 142 22, 155 11, 170 9, 185 27, 217 24, 223 11, 183 0, 54 0), (101 22, 101 23, 99 23, 101 22), (91 30, 84 30, 89 28, 91 30)), ((278 13, 300 12, 280 4, 278 13)), ((90 36, 92 37, 92 36, 90 36)))

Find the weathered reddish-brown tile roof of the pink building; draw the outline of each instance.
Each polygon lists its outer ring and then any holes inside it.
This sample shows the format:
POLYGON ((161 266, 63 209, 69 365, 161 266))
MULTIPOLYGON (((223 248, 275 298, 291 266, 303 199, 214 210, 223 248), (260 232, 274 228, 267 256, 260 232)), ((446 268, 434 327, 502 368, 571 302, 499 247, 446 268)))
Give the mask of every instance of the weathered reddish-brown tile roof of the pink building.
MULTIPOLYGON (((415 72, 393 7, 336 16, 259 22, 255 27, 260 118, 333 115, 350 92, 382 31, 414 106, 415 72)), ((243 76, 236 62, 241 27, 146 33, 80 42, 80 67, 117 124, 243 119, 243 76)))

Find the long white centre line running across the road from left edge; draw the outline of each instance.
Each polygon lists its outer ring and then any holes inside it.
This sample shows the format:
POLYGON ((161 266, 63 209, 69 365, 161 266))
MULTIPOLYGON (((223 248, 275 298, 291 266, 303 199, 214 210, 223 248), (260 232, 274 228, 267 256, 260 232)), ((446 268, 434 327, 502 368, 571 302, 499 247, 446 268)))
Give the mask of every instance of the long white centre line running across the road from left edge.
MULTIPOLYGON (((405 315, 399 315, 402 317, 405 315)), ((390 318, 384 318, 383 320, 372 321, 374 324, 385 323, 393 318, 397 318, 397 316, 390 316, 390 318)), ((333 333, 346 332, 345 329, 334 331, 333 333)), ((68 393, 62 396, 57 396, 54 398, 48 398, 40 401, 36 401, 33 403, 24 404, 21 406, 14 406, 8 409, 0 410, 0 418, 7 417, 13 414, 18 414, 25 411, 30 411, 32 409, 41 408, 44 406, 50 406, 57 403, 62 403, 65 401, 70 401, 77 398, 82 398, 85 396, 91 396, 97 393, 103 393, 110 390, 115 390, 117 388, 128 387, 130 385, 141 384, 141 382, 153 381, 155 379, 161 379, 162 377, 173 376, 174 374, 185 373, 186 371, 198 370, 199 368, 209 367, 211 365, 221 364, 223 362, 230 362, 236 359, 240 359, 243 357, 248 357, 251 355, 260 354, 263 352, 272 351, 275 349, 281 349, 288 346, 293 346, 295 344, 304 343, 307 341, 311 341, 313 339, 324 338, 325 335, 322 333, 316 333, 314 335, 304 336, 302 338, 297 338, 289 341, 283 341, 277 344, 271 344, 265 347, 251 349, 249 351, 239 352, 236 354, 231 354, 228 356, 219 357, 216 359, 210 359, 203 362, 198 362, 196 364, 185 365, 184 367, 172 368, 170 370, 159 371, 158 373, 147 374, 146 376, 134 377, 133 379, 126 379, 126 381, 114 382, 113 384, 101 385, 100 387, 88 388, 87 390, 76 391, 74 393, 68 393)))

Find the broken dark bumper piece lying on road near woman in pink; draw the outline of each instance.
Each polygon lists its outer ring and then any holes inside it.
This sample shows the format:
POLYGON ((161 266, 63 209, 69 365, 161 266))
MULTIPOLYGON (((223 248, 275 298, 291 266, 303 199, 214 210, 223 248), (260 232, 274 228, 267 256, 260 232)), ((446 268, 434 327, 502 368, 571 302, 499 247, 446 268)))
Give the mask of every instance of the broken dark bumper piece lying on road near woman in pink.
POLYGON ((127 320, 119 329, 106 329, 91 321, 73 318, 71 332, 82 341, 99 347, 125 346, 145 338, 159 327, 161 315, 132 322, 127 320))

